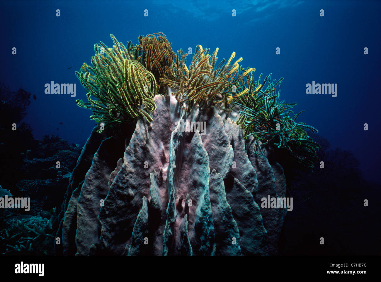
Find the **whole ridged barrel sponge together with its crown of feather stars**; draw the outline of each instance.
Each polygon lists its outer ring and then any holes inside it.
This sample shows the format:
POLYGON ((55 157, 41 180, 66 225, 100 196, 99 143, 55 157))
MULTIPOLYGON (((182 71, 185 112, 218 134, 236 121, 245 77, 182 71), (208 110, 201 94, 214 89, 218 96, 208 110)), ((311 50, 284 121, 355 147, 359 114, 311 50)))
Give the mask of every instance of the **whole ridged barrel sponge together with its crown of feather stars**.
POLYGON ((90 102, 78 106, 106 124, 70 178, 56 253, 277 254, 287 208, 258 203, 286 195, 276 150, 313 168, 320 146, 303 128, 317 130, 280 101, 283 78, 261 84, 242 57, 231 65, 235 52, 217 65, 218 48, 209 55, 201 45, 188 68, 156 35, 127 47, 111 35, 113 48, 96 44, 93 67, 76 73, 90 102))

